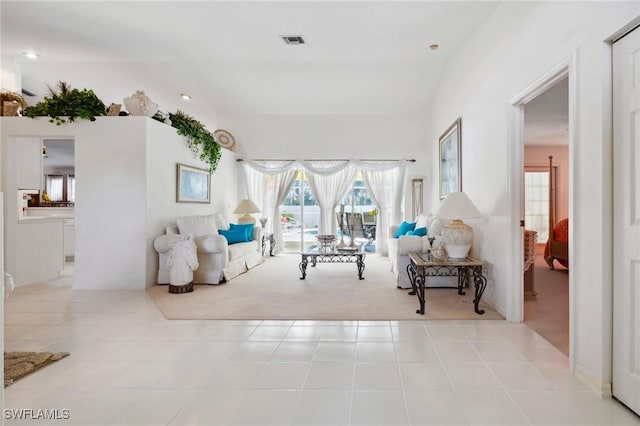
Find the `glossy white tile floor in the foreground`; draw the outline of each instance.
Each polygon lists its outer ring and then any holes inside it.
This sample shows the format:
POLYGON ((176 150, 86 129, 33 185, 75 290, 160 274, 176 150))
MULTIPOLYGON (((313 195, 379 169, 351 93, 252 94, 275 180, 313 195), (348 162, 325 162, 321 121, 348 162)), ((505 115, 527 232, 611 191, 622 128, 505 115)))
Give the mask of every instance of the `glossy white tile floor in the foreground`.
POLYGON ((5 350, 71 352, 4 393, 70 418, 7 425, 640 425, 522 324, 167 321, 143 291, 64 285, 5 313, 5 350))

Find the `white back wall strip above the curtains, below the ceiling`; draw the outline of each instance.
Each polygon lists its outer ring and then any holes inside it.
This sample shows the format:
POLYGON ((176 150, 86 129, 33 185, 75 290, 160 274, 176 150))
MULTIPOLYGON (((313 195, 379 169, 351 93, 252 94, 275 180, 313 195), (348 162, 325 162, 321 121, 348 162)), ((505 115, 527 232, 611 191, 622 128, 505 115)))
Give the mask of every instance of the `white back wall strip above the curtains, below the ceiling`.
MULTIPOLYGON (((220 127, 238 142, 238 157, 249 159, 415 159, 411 178, 425 179, 425 212, 432 212, 427 184, 437 176, 428 161, 429 113, 419 115, 256 115, 218 114, 220 127), (236 130, 239 129, 239 130, 236 130)), ((244 191, 244 190, 243 190, 244 191)), ((242 194, 241 194, 242 195, 242 194)), ((411 216, 411 199, 404 206, 411 216)))

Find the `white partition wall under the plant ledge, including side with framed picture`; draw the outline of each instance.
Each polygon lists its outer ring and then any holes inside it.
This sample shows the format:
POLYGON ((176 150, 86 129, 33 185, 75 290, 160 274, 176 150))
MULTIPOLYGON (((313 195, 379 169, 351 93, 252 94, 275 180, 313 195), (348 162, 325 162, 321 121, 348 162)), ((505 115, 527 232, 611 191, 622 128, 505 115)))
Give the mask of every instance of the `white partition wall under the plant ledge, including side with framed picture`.
MULTIPOLYGON (((74 288, 144 288, 155 282, 153 239, 176 216, 225 211, 237 203, 233 154, 223 152, 212 176, 212 203, 176 203, 176 163, 206 168, 175 129, 146 117, 99 117, 56 126, 46 118, 3 117, 2 153, 10 136, 75 140, 76 255, 74 288)), ((6 173, 15 165, 3 160, 6 173)), ((15 197, 14 197, 15 198, 15 197)), ((17 207, 5 204, 8 251, 15 244, 17 207)))

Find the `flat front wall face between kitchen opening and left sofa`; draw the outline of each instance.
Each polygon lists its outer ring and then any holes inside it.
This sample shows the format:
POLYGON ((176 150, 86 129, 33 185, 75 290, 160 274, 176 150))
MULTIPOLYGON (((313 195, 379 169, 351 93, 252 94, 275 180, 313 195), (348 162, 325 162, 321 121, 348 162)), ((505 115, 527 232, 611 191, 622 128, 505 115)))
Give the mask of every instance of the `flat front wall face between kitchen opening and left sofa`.
POLYGON ((147 120, 75 125, 74 288, 144 288, 147 120))

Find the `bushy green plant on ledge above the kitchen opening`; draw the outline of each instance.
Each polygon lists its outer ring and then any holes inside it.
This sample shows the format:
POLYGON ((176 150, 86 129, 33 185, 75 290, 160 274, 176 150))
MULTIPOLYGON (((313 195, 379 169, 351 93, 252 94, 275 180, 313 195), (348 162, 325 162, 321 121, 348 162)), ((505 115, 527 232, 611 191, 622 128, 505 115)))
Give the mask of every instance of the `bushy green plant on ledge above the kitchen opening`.
POLYGON ((59 126, 67 122, 64 117, 68 117, 69 122, 76 118, 95 121, 96 116, 107 113, 107 107, 93 90, 72 89, 65 81, 58 82, 57 90, 47 87, 49 95, 35 106, 27 107, 24 111, 27 117, 49 116, 49 122, 59 126))

